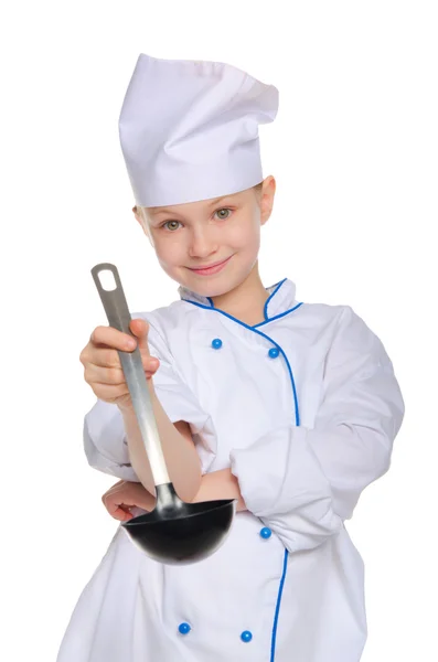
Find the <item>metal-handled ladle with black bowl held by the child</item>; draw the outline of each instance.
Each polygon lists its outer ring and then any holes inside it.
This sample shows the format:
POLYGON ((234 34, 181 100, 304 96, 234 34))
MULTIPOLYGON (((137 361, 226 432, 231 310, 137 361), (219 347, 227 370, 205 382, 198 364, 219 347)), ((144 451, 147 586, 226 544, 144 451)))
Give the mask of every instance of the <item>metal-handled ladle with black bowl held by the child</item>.
MULTIPOLYGON (((92 269, 92 275, 109 325, 135 338, 129 329, 132 318, 117 267, 103 263, 92 269), (114 276, 110 290, 102 285, 103 271, 114 276)), ((133 352, 119 351, 118 354, 157 491, 153 511, 122 522, 121 526, 132 543, 154 560, 170 565, 202 560, 224 543, 233 523, 236 500, 181 501, 169 479, 140 350, 137 346, 133 352)))

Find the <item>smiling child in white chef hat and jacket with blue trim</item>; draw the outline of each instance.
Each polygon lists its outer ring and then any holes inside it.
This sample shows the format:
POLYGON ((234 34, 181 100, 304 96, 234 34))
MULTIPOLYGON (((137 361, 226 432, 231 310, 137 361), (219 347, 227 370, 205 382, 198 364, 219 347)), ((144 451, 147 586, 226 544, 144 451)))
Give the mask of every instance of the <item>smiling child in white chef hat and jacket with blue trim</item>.
MULTIPOLYGON (((135 215, 180 299, 135 316, 171 481, 186 501, 236 499, 224 545, 188 566, 149 559, 118 528, 58 662, 357 662, 362 559, 344 526, 384 474, 404 416, 382 342, 346 306, 265 288, 260 228, 275 197, 258 125, 275 87, 229 65, 140 55, 120 115, 135 215)), ((136 341, 133 341, 135 344, 136 341)), ((97 403, 89 463, 119 479, 118 520, 153 509, 117 350, 83 350, 97 403)))

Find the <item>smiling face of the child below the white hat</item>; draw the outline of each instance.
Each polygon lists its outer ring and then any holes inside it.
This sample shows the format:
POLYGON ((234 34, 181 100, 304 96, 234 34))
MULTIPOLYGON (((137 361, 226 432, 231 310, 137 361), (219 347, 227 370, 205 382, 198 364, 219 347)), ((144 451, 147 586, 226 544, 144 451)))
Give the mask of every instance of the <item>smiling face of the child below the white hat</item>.
POLYGON ((275 185, 269 177, 260 191, 135 213, 168 276, 201 296, 218 297, 244 282, 257 263, 275 185))

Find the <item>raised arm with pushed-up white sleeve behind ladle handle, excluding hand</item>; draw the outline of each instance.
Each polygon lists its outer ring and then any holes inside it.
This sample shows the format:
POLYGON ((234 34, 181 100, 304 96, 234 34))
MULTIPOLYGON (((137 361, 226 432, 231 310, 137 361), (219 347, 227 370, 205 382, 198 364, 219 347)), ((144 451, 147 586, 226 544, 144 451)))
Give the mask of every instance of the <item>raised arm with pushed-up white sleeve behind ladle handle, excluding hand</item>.
MULTIPOLYGON (((136 319, 133 323, 141 324, 141 321, 136 319)), ((148 385, 169 477, 180 498, 191 501, 201 483, 201 462, 192 431, 202 434, 210 415, 200 406, 180 374, 167 342, 150 322, 148 348, 150 355, 160 362, 148 385)), ((119 407, 97 401, 86 415, 84 447, 88 463, 117 478, 141 482, 154 494, 132 406, 128 403, 119 407)))

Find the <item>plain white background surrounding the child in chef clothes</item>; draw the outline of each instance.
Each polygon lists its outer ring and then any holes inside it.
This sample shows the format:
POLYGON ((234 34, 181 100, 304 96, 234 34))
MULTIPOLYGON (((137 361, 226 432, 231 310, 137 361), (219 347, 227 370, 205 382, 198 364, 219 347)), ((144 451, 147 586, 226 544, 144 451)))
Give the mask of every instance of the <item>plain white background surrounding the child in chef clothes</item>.
MULTIPOLYGON (((346 303, 382 338, 406 401, 391 471, 348 528, 366 564, 364 662, 437 660, 435 2, 13 2, 1 34, 2 636, 54 661, 117 523, 82 448, 82 348, 106 323, 89 269, 132 310, 177 284, 133 220, 118 114, 140 52, 218 60, 280 89, 261 128, 277 178, 260 271, 346 303)), ((335 661, 333 661, 335 662, 335 661)))

